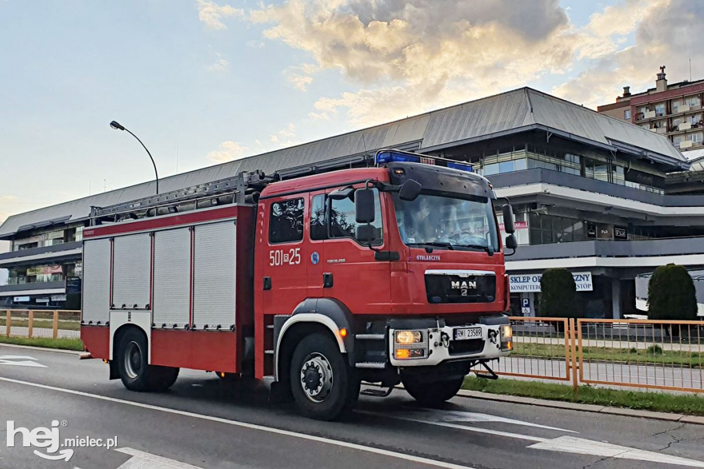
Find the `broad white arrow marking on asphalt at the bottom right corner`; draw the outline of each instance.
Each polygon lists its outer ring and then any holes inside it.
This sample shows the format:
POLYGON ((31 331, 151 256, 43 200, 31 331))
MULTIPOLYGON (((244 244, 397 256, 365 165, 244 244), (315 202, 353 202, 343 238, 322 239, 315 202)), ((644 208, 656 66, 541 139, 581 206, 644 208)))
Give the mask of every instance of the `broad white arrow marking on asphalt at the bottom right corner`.
POLYGON ((589 454, 593 456, 604 456, 608 458, 636 459, 638 461, 650 461, 651 463, 688 465, 691 468, 704 468, 704 463, 693 459, 678 458, 670 454, 655 453, 653 451, 643 451, 627 446, 593 442, 589 439, 575 437, 559 437, 546 442, 532 444, 528 446, 533 449, 547 449, 548 451, 561 451, 562 453, 589 454))

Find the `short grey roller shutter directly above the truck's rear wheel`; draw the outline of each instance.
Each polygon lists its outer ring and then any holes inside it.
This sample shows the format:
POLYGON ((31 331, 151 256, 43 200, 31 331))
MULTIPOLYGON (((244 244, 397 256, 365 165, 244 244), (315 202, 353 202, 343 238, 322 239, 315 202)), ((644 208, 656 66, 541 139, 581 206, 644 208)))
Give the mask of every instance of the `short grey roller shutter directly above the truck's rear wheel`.
POLYGON ((145 308, 149 304, 151 237, 149 233, 115 237, 113 241, 113 304, 145 308))

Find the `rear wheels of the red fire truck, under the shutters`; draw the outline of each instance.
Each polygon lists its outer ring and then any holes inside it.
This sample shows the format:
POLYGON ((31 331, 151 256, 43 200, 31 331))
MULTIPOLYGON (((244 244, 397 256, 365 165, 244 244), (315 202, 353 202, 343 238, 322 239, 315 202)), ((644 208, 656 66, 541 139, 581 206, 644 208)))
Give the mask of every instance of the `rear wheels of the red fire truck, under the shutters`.
POLYGON ((115 360, 122 384, 130 391, 164 391, 174 384, 178 368, 149 365, 146 337, 142 331, 131 328, 122 334, 115 360))

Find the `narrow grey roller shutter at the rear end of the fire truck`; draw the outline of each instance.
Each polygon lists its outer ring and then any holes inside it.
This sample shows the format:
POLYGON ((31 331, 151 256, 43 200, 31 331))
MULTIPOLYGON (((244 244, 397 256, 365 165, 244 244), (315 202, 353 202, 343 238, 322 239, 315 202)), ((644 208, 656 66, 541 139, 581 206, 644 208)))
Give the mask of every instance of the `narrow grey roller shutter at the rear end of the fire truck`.
POLYGON ((83 244, 83 316, 85 323, 110 319, 110 239, 83 244))

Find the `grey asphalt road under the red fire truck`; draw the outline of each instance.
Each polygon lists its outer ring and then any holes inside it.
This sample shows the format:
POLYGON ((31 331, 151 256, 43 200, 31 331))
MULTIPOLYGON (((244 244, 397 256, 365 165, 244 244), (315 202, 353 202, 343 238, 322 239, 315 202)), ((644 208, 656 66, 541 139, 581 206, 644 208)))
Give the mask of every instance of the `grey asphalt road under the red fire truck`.
POLYGON ((256 382, 184 371, 170 392, 140 394, 107 375, 101 361, 0 346, 0 468, 704 468, 700 425, 467 398, 426 409, 402 391, 322 423, 256 382), (117 444, 23 447, 18 427, 117 444))

